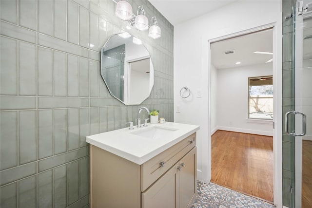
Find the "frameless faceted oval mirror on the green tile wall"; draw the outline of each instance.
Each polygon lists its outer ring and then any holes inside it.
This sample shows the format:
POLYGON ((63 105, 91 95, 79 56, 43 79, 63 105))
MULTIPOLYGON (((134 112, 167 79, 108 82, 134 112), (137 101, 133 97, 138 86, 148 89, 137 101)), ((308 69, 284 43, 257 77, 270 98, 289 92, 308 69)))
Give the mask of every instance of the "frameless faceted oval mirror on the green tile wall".
POLYGON ((125 105, 138 105, 154 86, 149 52, 129 33, 114 34, 101 50, 101 76, 111 95, 125 105))

